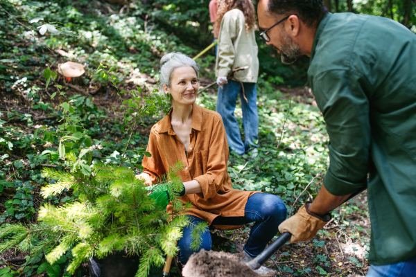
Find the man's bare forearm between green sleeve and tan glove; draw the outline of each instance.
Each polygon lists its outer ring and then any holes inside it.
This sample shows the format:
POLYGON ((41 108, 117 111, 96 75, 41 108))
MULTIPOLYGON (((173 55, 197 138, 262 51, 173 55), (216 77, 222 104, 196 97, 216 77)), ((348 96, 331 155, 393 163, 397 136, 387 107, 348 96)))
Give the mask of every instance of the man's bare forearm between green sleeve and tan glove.
POLYGON ((313 200, 311 206, 309 206, 309 211, 315 215, 326 215, 334 208, 340 206, 340 204, 343 204, 348 197, 349 195, 332 195, 324 186, 322 186, 315 200, 313 200))

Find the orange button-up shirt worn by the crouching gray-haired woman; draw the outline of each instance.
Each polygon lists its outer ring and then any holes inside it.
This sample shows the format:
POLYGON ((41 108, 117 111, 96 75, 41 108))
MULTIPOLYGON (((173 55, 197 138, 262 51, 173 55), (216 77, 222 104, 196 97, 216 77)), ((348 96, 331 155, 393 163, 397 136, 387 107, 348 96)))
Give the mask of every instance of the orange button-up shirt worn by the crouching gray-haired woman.
MULTIPOLYGON (((258 192, 235 190, 228 175, 229 157, 227 135, 223 119, 216 111, 193 104, 192 132, 190 134, 188 157, 171 125, 171 111, 156 123, 151 131, 146 151, 152 157, 144 157, 144 173, 152 181, 168 171, 180 160, 184 168, 178 172, 182 182, 196 180, 202 193, 184 195, 183 203, 192 202, 189 215, 195 215, 211 225, 219 215, 242 217, 248 197, 258 192)), ((220 229, 234 229, 237 226, 216 226, 220 229)))

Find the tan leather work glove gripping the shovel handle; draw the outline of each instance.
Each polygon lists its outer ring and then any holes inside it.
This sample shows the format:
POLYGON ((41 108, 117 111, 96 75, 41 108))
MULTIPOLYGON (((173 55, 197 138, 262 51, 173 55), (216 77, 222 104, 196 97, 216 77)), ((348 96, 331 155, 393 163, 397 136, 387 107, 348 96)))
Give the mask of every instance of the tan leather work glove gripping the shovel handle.
POLYGON ((331 214, 320 217, 309 212, 308 208, 312 202, 306 202, 300 210, 279 225, 280 233, 289 232, 292 234, 289 243, 304 242, 311 240, 318 231, 331 220, 331 214))

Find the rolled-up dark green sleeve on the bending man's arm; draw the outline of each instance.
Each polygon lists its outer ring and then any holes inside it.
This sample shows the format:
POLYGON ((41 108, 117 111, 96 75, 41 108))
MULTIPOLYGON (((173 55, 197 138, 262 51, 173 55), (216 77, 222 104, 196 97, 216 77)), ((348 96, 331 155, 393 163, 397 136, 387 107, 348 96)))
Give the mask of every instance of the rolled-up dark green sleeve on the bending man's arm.
POLYGON ((350 70, 326 71, 313 80, 329 134, 324 186, 333 195, 349 195, 367 184, 371 126, 363 82, 360 73, 350 70))

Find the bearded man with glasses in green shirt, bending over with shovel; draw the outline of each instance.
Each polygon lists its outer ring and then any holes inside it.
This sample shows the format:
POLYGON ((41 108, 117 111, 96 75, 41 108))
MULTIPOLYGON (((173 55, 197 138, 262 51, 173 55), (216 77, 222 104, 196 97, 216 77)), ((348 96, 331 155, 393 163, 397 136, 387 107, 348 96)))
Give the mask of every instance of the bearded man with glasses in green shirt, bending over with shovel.
POLYGON ((367 276, 416 276, 416 35, 383 17, 331 14, 320 0, 260 0, 257 12, 282 62, 311 57, 309 84, 330 139, 324 186, 279 230, 290 242, 310 240, 367 186, 367 276))

